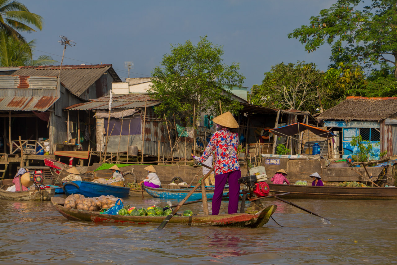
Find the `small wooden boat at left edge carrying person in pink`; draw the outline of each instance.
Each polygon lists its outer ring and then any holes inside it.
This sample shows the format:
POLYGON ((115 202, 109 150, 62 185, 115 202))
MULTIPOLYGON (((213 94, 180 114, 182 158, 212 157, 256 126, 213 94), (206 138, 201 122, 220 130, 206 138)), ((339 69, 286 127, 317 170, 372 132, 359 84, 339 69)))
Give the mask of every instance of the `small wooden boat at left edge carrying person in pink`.
POLYGON ((29 191, 6 191, 13 186, 12 179, 0 180, 0 199, 12 201, 49 201, 54 196, 54 188, 35 189, 29 191))

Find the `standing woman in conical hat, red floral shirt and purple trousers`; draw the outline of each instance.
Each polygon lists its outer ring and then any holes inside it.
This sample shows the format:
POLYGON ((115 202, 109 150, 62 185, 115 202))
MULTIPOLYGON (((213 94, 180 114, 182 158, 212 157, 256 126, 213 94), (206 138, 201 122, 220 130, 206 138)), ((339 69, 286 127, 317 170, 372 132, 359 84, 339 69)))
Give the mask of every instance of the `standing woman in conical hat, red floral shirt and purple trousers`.
POLYGON ((222 194, 226 181, 229 182, 229 214, 237 212, 239 204, 241 177, 239 160, 237 158, 237 146, 239 145, 239 134, 230 129, 239 128, 239 124, 233 115, 227 111, 213 119, 221 129, 212 134, 210 142, 198 162, 204 162, 215 150, 215 190, 212 199, 212 215, 219 214, 222 202, 222 194))

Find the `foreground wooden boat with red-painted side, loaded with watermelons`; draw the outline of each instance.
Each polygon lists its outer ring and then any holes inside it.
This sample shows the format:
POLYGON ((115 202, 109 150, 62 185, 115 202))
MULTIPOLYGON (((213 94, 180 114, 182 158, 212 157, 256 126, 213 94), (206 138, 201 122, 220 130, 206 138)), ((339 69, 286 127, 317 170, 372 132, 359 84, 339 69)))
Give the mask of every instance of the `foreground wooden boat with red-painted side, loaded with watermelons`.
MULTIPOLYGON (((99 212, 87 212, 80 210, 67 209, 64 207, 62 198, 54 198, 52 204, 68 220, 87 221, 94 223, 113 223, 122 225, 154 225, 158 226, 164 216, 123 216, 101 214, 99 212)), ((219 215, 195 215, 195 216, 174 216, 168 225, 186 226, 233 226, 260 228, 269 221, 270 216, 276 211, 276 205, 270 205, 259 210, 257 213, 236 213, 219 215)))

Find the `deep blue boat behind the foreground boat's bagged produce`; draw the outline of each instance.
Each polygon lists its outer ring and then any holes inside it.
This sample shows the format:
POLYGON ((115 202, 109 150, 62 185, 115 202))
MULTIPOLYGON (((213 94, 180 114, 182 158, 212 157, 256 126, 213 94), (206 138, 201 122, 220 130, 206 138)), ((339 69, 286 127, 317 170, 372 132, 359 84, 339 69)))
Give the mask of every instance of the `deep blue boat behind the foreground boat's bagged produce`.
POLYGON ((118 198, 126 198, 129 188, 108 184, 93 183, 89 181, 69 181, 64 183, 66 195, 82 194, 85 197, 98 197, 100 195, 113 195, 118 198))

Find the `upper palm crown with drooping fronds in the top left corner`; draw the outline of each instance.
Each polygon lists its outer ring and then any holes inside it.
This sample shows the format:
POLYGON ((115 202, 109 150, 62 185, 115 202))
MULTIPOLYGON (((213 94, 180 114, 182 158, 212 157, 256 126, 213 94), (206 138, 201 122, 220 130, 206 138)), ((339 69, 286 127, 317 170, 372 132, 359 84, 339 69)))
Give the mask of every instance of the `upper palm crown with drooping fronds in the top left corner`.
POLYGON ((0 0, 0 31, 25 42, 25 38, 18 32, 31 33, 35 31, 29 25, 42 29, 42 17, 31 13, 27 7, 15 0, 0 0))

